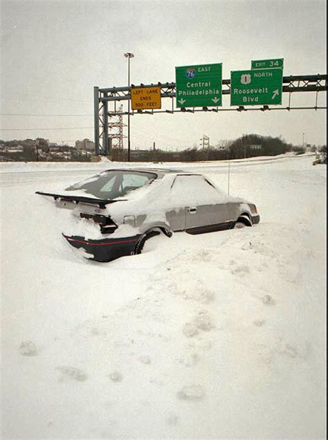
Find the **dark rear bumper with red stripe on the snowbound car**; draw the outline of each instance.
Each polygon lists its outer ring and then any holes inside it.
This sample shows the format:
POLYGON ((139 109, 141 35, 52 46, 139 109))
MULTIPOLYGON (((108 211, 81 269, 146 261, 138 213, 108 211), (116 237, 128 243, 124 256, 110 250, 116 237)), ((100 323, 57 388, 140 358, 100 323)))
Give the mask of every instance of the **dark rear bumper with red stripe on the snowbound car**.
POLYGON ((84 258, 96 262, 111 262, 113 259, 133 254, 136 242, 140 238, 140 235, 134 235, 134 237, 89 240, 77 235, 69 237, 63 234, 63 236, 73 248, 84 250, 84 258))

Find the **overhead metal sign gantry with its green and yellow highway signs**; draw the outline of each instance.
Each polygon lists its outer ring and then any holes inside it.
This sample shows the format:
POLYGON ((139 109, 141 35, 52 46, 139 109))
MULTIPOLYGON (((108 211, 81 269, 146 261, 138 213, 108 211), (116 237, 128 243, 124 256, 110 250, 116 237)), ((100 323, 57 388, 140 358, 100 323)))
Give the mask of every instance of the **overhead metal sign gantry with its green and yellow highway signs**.
POLYGON ((318 105, 318 93, 327 91, 326 74, 283 76, 283 67, 282 58, 254 60, 250 70, 233 71, 230 79, 222 80, 221 63, 193 64, 176 67, 176 82, 131 84, 106 89, 94 87, 95 154, 99 154, 100 150, 102 154, 109 152, 109 118, 112 116, 327 109, 318 105), (291 95, 295 92, 315 92, 315 104, 311 107, 291 107, 291 95), (285 107, 282 107, 282 93, 289 93, 285 107), (223 107, 224 95, 230 95, 230 107, 223 107), (171 107, 163 108, 163 98, 171 98, 171 107), (124 100, 131 100, 132 111, 123 111, 118 105, 124 100))

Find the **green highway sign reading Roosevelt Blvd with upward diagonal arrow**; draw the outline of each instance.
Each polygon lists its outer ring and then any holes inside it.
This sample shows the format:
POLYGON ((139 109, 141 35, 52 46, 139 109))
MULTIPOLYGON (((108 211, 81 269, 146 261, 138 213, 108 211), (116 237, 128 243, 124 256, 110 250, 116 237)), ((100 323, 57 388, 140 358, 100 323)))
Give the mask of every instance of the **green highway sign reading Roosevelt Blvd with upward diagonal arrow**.
POLYGON ((282 103, 282 68, 231 72, 230 105, 282 103))

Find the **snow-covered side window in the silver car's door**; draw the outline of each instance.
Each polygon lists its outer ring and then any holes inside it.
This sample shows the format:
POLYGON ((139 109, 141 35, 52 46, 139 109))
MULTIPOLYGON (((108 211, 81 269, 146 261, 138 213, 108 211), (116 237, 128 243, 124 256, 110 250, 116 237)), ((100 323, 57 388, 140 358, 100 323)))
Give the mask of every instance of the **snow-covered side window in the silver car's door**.
POLYGON ((186 205, 224 203, 224 192, 219 192, 203 176, 176 176, 171 189, 172 201, 186 205))

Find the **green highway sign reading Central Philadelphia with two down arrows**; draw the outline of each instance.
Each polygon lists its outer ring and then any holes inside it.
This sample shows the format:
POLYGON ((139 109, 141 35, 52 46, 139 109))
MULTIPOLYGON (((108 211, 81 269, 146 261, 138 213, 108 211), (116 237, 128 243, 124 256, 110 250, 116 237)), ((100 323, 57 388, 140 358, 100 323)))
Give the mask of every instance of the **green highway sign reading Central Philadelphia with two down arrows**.
POLYGON ((175 68, 176 107, 222 105, 222 64, 175 68))

